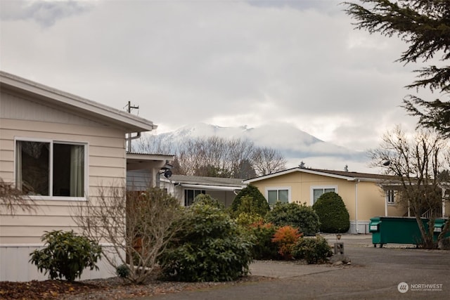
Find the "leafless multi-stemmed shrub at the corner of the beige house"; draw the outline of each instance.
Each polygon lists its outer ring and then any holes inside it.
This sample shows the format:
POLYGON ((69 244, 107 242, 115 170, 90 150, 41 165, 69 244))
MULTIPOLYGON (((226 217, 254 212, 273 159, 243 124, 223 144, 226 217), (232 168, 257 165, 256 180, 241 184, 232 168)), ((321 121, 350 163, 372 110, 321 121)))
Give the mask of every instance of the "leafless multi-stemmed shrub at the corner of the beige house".
POLYGON ((182 216, 178 200, 158 188, 141 193, 113 185, 98 192, 77 206, 72 219, 86 237, 112 245, 103 247, 111 266, 125 266, 127 279, 142 283, 177 231, 174 224, 182 216))

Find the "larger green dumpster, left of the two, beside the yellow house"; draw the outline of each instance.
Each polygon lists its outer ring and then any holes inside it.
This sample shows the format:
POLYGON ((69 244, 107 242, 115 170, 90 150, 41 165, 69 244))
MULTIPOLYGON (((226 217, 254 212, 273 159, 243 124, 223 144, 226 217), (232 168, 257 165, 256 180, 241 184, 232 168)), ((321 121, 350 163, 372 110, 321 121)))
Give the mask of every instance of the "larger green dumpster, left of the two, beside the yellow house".
MULTIPOLYGON (((428 219, 422 219, 425 225, 428 219)), ((380 244, 420 244, 422 237, 415 217, 378 216, 371 219, 373 247, 380 244)))

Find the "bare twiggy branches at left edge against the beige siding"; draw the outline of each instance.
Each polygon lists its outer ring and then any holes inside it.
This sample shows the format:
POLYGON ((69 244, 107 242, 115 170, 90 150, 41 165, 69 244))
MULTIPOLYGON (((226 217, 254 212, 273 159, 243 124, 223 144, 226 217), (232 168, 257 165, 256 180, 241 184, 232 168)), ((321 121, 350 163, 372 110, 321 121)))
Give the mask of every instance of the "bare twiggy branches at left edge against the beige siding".
POLYGON ((3 178, 0 178, 0 207, 6 207, 11 215, 15 215, 18 209, 28 212, 36 210, 30 197, 12 183, 6 183, 3 178))

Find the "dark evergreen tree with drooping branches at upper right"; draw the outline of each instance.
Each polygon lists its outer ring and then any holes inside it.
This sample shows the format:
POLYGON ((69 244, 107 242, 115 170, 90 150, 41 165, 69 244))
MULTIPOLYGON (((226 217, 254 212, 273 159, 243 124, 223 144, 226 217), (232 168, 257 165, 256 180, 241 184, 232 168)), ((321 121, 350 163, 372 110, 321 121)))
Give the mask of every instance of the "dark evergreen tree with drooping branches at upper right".
MULTIPOLYGON (((363 5, 345 2, 346 13, 356 20, 356 28, 378 32, 387 37, 397 35, 408 48, 397 60, 401 63, 424 62, 439 56, 442 62, 450 58, 450 1, 442 0, 360 0, 363 5)), ((409 89, 428 88, 448 95, 450 66, 429 65, 416 71, 417 79, 409 89)), ((419 117, 418 124, 436 129, 450 137, 450 102, 448 98, 424 100, 409 95, 404 108, 419 117)))

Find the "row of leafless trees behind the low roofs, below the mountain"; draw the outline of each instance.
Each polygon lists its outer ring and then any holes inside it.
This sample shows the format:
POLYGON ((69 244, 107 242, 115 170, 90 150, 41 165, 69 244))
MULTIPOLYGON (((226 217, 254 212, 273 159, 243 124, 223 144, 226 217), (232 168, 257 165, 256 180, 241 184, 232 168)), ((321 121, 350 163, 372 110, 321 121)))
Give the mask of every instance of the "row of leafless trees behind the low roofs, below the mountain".
POLYGON ((172 152, 176 157, 172 171, 180 175, 251 178, 281 171, 286 164, 278 150, 258 148, 240 138, 185 138, 174 145, 157 136, 146 136, 135 145, 140 152, 172 152))

